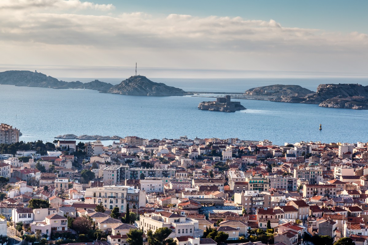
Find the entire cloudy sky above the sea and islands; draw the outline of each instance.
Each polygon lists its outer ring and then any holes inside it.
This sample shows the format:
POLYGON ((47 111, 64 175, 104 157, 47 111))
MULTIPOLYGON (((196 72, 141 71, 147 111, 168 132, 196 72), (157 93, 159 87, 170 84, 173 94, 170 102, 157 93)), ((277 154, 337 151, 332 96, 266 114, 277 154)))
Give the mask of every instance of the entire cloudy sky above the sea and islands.
POLYGON ((368 77, 367 12, 366 0, 1 0, 0 71, 368 77))

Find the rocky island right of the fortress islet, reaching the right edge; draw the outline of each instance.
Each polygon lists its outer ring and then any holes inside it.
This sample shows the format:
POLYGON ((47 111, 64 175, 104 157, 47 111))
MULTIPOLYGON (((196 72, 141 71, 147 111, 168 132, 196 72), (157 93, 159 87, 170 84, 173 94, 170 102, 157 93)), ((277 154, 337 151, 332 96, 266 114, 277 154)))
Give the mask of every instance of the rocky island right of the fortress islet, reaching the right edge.
POLYGON ((245 91, 238 98, 270 100, 304 104, 318 104, 320 107, 368 109, 368 86, 361 84, 319 84, 317 91, 298 85, 270 85, 245 91))

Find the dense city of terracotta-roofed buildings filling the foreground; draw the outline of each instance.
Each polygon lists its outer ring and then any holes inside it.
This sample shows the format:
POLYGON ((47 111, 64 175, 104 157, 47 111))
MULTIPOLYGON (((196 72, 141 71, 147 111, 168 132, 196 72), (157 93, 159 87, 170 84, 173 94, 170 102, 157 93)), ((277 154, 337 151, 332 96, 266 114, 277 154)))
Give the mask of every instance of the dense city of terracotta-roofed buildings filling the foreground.
POLYGON ((367 143, 19 137, 1 123, 3 237, 127 245, 168 231, 165 244, 178 245, 368 241, 367 143))

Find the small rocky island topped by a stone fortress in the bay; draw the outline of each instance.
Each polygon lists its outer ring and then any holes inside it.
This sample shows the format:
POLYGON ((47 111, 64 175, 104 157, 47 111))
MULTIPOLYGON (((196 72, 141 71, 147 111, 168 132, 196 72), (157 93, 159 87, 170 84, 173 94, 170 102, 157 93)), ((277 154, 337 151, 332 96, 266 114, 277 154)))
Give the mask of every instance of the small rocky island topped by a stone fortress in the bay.
POLYGON ((217 97, 216 101, 203 101, 199 103, 198 109, 207 111, 223 111, 223 112, 235 112, 245 110, 238 101, 231 101, 230 95, 225 97, 217 97))

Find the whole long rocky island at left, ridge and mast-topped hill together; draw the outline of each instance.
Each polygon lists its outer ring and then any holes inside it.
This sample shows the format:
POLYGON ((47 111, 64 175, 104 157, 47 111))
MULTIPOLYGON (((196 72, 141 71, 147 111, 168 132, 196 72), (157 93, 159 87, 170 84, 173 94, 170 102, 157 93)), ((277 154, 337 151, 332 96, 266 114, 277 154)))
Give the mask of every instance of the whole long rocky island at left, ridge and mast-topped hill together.
POLYGON ((114 86, 99 80, 88 83, 79 81, 65 82, 37 71, 5 71, 0 72, 0 84, 52 89, 92 89, 101 93, 141 96, 183 96, 190 94, 182 89, 167 86, 164 83, 152 82, 145 76, 140 75, 131 76, 114 86))

